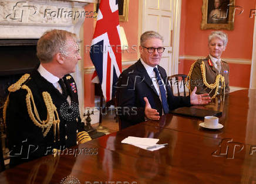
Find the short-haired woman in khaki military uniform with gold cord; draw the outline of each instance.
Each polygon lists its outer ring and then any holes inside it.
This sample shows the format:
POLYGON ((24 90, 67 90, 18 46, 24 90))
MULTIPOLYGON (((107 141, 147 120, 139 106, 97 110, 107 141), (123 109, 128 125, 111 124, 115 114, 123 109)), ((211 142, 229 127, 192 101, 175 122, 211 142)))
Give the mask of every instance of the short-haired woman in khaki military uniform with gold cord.
POLYGON ((221 60, 221 54, 227 46, 227 34, 220 31, 212 32, 208 37, 209 55, 191 65, 188 73, 190 92, 197 86, 197 94, 209 93, 211 98, 224 95, 230 91, 228 64, 221 60))

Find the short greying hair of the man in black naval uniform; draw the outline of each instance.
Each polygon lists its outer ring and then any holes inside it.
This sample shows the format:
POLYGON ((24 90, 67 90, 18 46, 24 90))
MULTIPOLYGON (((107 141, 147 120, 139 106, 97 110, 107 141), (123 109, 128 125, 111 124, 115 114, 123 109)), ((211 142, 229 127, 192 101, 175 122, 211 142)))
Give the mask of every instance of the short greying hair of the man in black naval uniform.
POLYGON ((61 53, 65 50, 66 41, 69 37, 77 41, 76 34, 66 30, 53 29, 43 33, 36 46, 36 55, 41 63, 49 63, 56 53, 61 53))

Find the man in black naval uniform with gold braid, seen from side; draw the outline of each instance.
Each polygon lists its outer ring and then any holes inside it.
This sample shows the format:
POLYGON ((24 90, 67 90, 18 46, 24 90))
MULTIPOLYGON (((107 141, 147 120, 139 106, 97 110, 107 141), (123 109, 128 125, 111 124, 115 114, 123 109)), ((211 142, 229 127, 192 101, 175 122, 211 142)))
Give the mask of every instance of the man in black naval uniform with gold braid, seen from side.
POLYGON ((69 75, 81 59, 75 34, 44 33, 37 55, 39 67, 8 88, 4 117, 10 166, 91 140, 83 131, 78 92, 69 75))

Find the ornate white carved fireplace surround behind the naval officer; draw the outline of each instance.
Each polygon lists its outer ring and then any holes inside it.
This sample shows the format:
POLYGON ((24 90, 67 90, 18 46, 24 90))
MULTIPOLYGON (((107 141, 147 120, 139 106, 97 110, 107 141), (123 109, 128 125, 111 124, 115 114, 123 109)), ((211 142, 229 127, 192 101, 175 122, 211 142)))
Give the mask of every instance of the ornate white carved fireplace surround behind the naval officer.
POLYGON ((57 1, 0 0, 0 39, 39 39, 50 29, 63 29, 76 33, 80 39, 82 60, 73 74, 79 91, 80 111, 83 112, 83 22, 92 18, 84 6, 96 0, 57 1))

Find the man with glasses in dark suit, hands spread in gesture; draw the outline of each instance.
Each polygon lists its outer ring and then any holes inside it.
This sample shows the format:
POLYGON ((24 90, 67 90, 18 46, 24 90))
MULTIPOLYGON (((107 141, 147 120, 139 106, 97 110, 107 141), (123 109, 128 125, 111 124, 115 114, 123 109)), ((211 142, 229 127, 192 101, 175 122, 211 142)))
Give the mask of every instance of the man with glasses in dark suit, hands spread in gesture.
POLYGON ((162 114, 177 107, 206 104, 208 94, 177 97, 171 92, 164 68, 159 66, 164 51, 163 37, 145 32, 140 37, 140 60, 120 75, 116 88, 122 129, 147 119, 159 120, 162 114))

